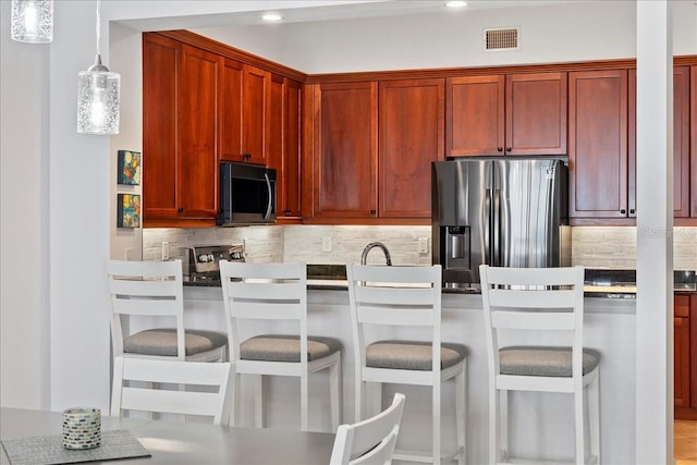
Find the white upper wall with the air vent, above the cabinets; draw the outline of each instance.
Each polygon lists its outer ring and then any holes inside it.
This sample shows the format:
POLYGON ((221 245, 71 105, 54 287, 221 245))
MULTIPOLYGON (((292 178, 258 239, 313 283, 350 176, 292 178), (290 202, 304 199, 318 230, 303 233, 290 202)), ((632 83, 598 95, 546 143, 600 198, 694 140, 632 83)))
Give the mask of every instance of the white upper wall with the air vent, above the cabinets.
MULTIPOLYGON (((675 54, 696 53, 697 8, 674 7, 675 54)), ((636 57, 636 5, 622 0, 192 30, 308 74, 636 57), (482 50, 485 28, 511 26, 521 50, 482 50)))

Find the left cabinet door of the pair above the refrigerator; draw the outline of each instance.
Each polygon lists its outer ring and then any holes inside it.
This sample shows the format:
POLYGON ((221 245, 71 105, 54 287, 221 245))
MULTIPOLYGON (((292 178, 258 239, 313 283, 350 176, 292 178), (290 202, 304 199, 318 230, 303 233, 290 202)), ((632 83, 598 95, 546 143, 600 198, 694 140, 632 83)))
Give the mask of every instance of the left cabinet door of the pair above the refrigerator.
POLYGON ((504 76, 447 79, 445 155, 503 155, 504 76))

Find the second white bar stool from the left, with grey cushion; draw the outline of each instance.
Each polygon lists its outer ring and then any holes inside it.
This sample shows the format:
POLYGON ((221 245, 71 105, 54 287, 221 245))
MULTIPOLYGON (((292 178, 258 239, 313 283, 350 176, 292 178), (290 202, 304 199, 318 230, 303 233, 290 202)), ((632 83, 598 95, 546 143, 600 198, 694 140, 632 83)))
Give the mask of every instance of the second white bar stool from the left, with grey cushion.
POLYGON ((309 375, 329 370, 332 431, 341 423, 341 350, 334 338, 307 334, 305 264, 220 262, 231 362, 235 366, 232 423, 240 412, 240 376, 253 375, 255 425, 265 425, 264 376, 301 381, 301 428, 308 430, 309 375), (283 320, 291 334, 268 333, 262 321, 283 320), (244 328, 243 328, 244 327, 244 328), (244 339, 243 339, 244 335, 244 339))

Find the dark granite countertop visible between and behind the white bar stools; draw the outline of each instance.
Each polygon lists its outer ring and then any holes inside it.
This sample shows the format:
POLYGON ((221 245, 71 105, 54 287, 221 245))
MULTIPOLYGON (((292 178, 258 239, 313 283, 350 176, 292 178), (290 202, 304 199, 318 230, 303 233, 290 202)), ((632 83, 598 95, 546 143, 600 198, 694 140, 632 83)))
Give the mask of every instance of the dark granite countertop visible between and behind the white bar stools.
MULTIPOLYGON (((674 272, 674 292, 697 293, 697 273, 690 271, 674 272)), ((586 282, 584 291, 591 296, 635 298, 636 270, 620 269, 586 269, 586 282)), ((187 281, 188 286, 220 286, 220 280, 187 281)), ((307 265, 307 287, 310 290, 345 291, 347 289, 345 265, 307 265)), ((481 291, 477 284, 463 284, 458 286, 445 286, 444 293, 452 294, 479 294, 481 291)))

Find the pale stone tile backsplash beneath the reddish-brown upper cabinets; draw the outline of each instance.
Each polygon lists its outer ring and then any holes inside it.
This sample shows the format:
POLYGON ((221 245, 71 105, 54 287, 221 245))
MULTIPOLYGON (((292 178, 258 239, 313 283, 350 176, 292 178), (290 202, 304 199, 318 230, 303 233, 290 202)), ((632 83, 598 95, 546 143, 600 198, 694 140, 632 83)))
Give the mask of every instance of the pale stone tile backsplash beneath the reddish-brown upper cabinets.
MULTIPOLYGON (((650 233, 650 232, 649 232, 650 233)), ((647 233, 647 234, 649 234, 647 233)), ((591 268, 634 269, 637 229, 631 227, 572 228, 572 264, 591 268)), ((305 261, 346 264, 360 261, 363 248, 384 243, 394 265, 431 264, 431 228, 359 225, 273 225, 210 229, 144 229, 143 259, 162 258, 169 243, 171 258, 186 247, 244 243, 247 261, 305 261), (426 253, 419 253, 419 238, 426 253), (421 241, 423 242, 423 241, 421 241)), ((697 228, 674 228, 673 264, 676 270, 697 270, 697 228)), ((383 264, 380 250, 371 250, 369 264, 383 264)))

